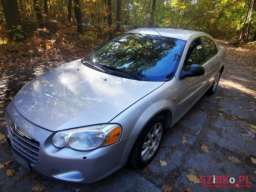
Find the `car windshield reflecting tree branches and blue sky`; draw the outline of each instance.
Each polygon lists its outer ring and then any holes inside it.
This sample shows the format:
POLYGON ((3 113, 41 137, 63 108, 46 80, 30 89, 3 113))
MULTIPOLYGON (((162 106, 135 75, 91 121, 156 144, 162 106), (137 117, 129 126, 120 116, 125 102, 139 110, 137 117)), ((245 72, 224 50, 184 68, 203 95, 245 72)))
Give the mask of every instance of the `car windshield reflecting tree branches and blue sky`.
POLYGON ((87 61, 160 81, 173 77, 184 45, 180 39, 124 33, 89 55, 87 61))

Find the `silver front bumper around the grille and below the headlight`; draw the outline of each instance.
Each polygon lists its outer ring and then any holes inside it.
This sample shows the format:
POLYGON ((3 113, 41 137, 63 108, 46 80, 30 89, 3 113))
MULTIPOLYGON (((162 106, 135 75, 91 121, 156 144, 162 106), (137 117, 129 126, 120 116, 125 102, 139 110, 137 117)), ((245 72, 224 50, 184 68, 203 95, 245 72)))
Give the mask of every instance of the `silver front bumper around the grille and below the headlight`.
MULTIPOLYGON (((54 132, 40 128, 24 119, 16 111, 13 101, 9 104, 7 112, 22 131, 40 144, 35 164, 29 163, 25 156, 14 150, 16 160, 27 169, 31 168, 48 177, 64 181, 92 183, 107 177, 125 165, 137 138, 137 135, 132 135, 113 145, 92 151, 60 149, 52 145, 54 132)), ((12 131, 9 126, 8 129, 9 132, 12 131)), ((12 141, 11 147, 13 148, 12 141)))

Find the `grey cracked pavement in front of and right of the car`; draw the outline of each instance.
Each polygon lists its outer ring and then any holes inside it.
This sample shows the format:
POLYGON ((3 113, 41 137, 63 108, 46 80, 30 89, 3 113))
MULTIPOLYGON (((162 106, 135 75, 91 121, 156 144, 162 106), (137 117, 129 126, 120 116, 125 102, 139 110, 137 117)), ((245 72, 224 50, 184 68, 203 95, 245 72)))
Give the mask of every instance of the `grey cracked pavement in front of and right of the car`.
MULTIPOLYGON (((238 52, 237 52, 238 53, 238 52)), ((255 54, 255 53, 254 53, 255 54)), ((246 58, 244 58, 246 60, 246 58)), ((250 63, 253 64, 253 63, 250 63)), ((256 66, 254 63, 252 66, 256 66)), ((24 192, 38 182, 46 185, 44 191, 162 191, 162 185, 172 185, 173 191, 256 191, 255 130, 256 84, 255 69, 246 62, 237 62, 227 55, 225 70, 213 96, 203 96, 165 135, 155 159, 143 170, 127 165, 109 177, 92 184, 62 182, 39 175, 35 180, 25 179, 29 172, 15 163, 5 143, 0 144, 0 163, 13 162, 0 170, 3 182, 0 191, 24 192), (237 98, 237 100, 232 99, 237 98), (251 128, 251 129, 250 129, 251 128), (187 142, 182 143, 181 136, 187 142), (202 151, 201 144, 209 148, 202 151), (173 152, 173 148, 176 149, 173 152), (244 154, 249 153, 249 154, 244 154), (232 163, 228 157, 241 161, 232 163), (159 161, 167 162, 166 167, 159 161), (200 175, 229 175, 238 180, 239 175, 248 176, 251 188, 203 188, 194 184, 186 175, 189 167, 200 175), (7 177, 8 169, 16 170, 7 177)), ((7 106, 4 105, 5 107, 7 106)), ((1 115, 3 117, 3 114, 1 115)), ((2 123, 3 121, 1 121, 2 123)), ((6 132, 1 126, 1 133, 6 132)), ((198 177, 198 176, 197 176, 198 177)))

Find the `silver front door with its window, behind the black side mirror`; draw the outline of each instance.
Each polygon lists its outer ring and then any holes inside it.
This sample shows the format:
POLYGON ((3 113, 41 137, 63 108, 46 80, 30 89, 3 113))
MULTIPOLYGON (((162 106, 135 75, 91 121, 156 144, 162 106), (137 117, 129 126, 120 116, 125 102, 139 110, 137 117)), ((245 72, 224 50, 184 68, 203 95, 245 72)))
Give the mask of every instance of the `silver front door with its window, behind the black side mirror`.
POLYGON ((203 76, 186 77, 184 79, 177 79, 178 98, 177 108, 174 115, 174 120, 178 120, 195 102, 203 95, 206 89, 208 65, 205 62, 205 55, 200 37, 192 41, 188 48, 182 70, 187 70, 189 65, 202 65, 205 69, 203 76))

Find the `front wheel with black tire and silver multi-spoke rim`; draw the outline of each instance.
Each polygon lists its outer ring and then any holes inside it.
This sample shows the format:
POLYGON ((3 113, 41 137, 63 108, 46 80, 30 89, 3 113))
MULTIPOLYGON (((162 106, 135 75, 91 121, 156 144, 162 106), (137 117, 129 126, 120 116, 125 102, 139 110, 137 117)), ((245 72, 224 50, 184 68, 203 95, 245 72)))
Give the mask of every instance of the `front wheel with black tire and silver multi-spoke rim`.
POLYGON ((135 168, 143 168, 156 156, 164 138, 165 121, 163 116, 151 119, 140 132, 130 153, 128 162, 135 168), (155 135, 154 135, 155 134, 155 135), (152 138, 150 138, 150 135, 152 138))

